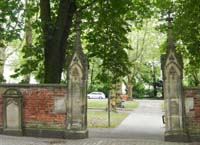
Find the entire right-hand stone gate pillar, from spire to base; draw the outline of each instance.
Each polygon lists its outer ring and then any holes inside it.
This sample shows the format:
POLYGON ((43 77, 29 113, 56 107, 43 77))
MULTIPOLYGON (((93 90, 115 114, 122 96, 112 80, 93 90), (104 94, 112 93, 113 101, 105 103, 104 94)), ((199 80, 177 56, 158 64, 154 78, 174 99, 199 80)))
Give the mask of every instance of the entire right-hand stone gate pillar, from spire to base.
POLYGON ((172 18, 169 21, 167 54, 162 56, 163 93, 165 103, 165 140, 187 141, 183 96, 183 62, 176 52, 172 35, 172 18))

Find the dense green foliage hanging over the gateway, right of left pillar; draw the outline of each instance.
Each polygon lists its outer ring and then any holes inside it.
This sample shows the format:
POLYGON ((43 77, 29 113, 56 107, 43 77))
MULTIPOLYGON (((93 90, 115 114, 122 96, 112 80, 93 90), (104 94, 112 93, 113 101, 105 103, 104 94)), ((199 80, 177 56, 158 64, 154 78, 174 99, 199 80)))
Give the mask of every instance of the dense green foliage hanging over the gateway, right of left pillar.
POLYGON ((90 64, 94 63, 94 59, 101 60, 96 67, 98 73, 92 75, 92 85, 96 84, 96 89, 102 84, 101 89, 108 93, 111 84, 130 72, 131 63, 127 54, 131 49, 127 39, 131 31, 130 22, 141 27, 143 18, 150 17, 152 13, 151 5, 144 1, 99 1, 84 11, 88 19, 84 20, 86 33, 83 38, 90 64))

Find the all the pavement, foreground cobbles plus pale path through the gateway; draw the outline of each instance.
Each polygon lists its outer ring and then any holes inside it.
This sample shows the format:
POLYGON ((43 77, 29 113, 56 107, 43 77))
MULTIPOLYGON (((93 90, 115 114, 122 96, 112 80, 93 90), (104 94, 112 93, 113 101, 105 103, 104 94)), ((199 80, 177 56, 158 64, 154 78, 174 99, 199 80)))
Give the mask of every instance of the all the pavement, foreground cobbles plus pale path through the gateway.
POLYGON ((89 138, 80 140, 13 137, 0 135, 0 145, 200 145, 164 142, 161 100, 136 100, 139 108, 119 127, 89 129, 89 138))

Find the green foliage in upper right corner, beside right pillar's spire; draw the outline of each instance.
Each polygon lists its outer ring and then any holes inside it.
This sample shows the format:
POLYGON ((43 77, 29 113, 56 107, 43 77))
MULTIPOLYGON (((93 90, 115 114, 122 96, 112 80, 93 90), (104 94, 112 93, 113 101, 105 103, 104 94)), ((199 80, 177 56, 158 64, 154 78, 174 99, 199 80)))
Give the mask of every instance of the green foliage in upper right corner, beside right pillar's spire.
POLYGON ((200 62, 200 2, 197 0, 179 0, 176 2, 174 31, 179 50, 190 63, 200 62))

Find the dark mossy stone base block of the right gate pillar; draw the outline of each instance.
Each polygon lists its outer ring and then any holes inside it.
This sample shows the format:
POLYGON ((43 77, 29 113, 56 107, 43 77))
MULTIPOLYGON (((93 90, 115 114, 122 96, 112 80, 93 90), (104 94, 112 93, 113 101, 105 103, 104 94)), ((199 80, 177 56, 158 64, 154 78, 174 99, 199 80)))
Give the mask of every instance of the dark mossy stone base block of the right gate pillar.
POLYGON ((165 132, 164 139, 165 141, 169 141, 169 142, 189 142, 190 141, 186 133, 173 132, 173 131, 165 132))

